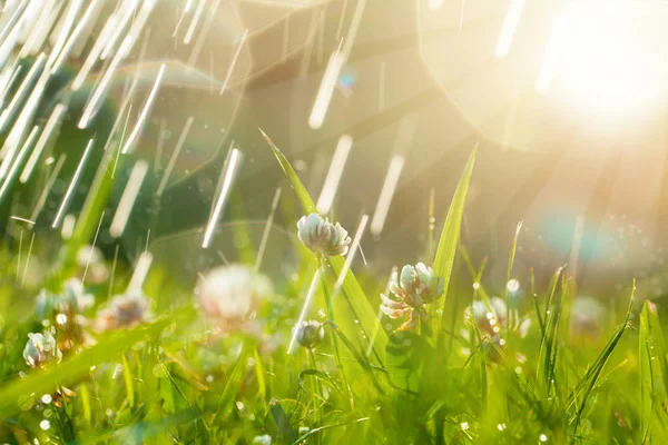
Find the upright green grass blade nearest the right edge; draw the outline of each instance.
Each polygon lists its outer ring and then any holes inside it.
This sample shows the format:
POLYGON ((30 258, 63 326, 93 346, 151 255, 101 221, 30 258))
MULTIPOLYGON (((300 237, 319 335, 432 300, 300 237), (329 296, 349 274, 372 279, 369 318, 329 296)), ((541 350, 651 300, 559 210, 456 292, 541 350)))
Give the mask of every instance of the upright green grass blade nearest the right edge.
POLYGON ((638 375, 640 377, 640 437, 642 444, 651 442, 651 412, 654 407, 654 373, 652 373, 652 333, 649 325, 647 305, 640 313, 640 329, 638 333, 638 375))

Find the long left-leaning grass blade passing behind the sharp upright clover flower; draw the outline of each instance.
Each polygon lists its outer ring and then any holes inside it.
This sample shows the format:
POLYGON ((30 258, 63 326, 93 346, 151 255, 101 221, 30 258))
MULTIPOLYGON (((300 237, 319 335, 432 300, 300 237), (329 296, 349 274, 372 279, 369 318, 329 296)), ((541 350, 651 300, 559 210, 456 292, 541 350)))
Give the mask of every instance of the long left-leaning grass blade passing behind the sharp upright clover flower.
MULTIPOLYGON (((269 147, 272 147, 272 151, 278 160, 278 164, 281 164, 285 176, 287 176, 287 178, 289 179, 291 186, 295 191, 297 199, 302 204, 302 207, 304 208, 304 212, 317 212, 315 202, 311 198, 311 195, 308 195, 308 191, 306 191, 306 188, 299 180, 299 177, 297 176, 296 171, 292 168, 285 155, 283 155, 283 152, 278 149, 278 147, 276 147, 276 145, 272 141, 272 139, 269 139, 268 136, 266 136, 264 132, 262 132, 262 135, 266 139, 269 147)), ((343 271, 345 259, 343 257, 331 257, 327 258, 327 264, 330 265, 334 274, 338 276, 343 271)), ((355 275, 352 270, 347 270, 345 278, 343 279, 342 289, 344 297, 351 306, 351 309, 353 309, 353 312, 358 317, 362 332, 366 335, 366 338, 371 338, 370 335, 375 332, 375 327, 377 324, 380 324, 380 322, 376 318, 375 310, 371 306, 371 303, 366 298, 366 295, 362 290, 362 287, 360 286, 360 283, 357 283, 357 279, 355 278, 355 275)), ((385 329, 383 329, 383 327, 380 326, 375 336, 374 349, 380 354, 381 359, 382 355, 385 352, 386 345, 387 334, 385 333, 385 329)))

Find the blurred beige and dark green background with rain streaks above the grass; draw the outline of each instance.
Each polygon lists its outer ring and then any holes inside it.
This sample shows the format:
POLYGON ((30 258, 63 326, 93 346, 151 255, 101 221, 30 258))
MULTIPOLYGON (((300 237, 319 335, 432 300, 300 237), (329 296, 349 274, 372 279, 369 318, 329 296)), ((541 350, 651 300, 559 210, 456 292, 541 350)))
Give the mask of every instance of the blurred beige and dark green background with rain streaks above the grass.
POLYGON ((102 166, 109 257, 196 279, 259 244, 281 188, 263 268, 289 273, 299 210, 262 128, 322 212, 370 216, 372 275, 430 261, 478 145, 462 244, 494 287, 523 221, 520 283, 568 264, 584 293, 668 291, 665 1, 0 4, 6 244, 67 237, 102 166))

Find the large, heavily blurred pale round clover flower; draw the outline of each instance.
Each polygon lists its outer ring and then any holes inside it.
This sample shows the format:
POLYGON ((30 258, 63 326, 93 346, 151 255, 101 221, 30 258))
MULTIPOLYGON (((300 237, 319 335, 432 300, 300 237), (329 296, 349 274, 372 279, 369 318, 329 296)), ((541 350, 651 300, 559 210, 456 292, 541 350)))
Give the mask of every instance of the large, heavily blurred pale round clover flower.
POLYGON ((216 267, 197 285, 204 315, 219 327, 236 328, 273 295, 272 281, 244 265, 216 267))

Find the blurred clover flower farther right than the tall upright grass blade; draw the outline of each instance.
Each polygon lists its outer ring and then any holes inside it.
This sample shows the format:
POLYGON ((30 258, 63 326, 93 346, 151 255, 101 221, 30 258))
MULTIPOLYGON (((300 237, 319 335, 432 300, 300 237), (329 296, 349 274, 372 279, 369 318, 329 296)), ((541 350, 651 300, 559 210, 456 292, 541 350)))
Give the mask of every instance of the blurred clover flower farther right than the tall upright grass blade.
POLYGON ((489 307, 484 301, 475 300, 466 308, 465 318, 478 326, 480 332, 497 346, 505 345, 503 336, 510 330, 524 337, 531 325, 531 319, 519 318, 515 309, 508 310, 505 301, 499 297, 489 300, 489 307))

